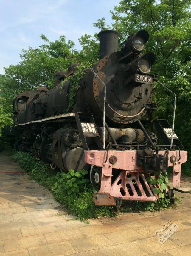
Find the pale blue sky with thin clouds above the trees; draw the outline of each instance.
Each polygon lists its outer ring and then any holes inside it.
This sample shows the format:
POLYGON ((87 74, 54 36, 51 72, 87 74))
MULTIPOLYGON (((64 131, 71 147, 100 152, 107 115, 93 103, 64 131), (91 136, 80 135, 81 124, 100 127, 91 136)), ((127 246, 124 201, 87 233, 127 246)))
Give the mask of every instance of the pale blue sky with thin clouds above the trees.
POLYGON ((41 33, 55 41, 61 35, 76 43, 82 35, 97 32, 92 23, 103 16, 111 24, 110 10, 120 0, 0 0, 0 74, 20 61, 21 49, 43 43, 41 33))

